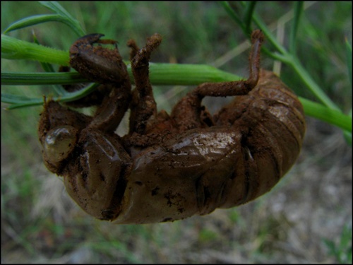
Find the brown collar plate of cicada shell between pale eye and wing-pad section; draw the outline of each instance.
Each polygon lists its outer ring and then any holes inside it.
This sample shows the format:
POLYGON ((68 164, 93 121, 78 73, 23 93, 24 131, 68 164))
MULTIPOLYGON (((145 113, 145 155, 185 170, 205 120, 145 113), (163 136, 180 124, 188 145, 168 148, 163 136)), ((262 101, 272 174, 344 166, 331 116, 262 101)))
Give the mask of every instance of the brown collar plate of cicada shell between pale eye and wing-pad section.
POLYGON ((131 157, 119 136, 84 129, 80 132, 75 160, 62 175, 66 191, 95 218, 114 220, 123 208, 123 195, 131 174, 131 157))

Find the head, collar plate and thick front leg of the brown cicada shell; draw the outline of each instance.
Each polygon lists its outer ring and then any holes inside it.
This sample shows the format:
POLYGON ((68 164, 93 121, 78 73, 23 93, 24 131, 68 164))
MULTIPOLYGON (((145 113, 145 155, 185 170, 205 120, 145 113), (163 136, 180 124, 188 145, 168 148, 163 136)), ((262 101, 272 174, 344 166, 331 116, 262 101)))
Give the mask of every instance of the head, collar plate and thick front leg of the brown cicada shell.
POLYGON ((70 63, 91 81, 111 86, 112 92, 95 117, 45 102, 38 132, 45 165, 64 177, 68 194, 90 215, 111 220, 124 208, 122 197, 131 171, 131 156, 113 132, 128 109, 131 84, 117 49, 93 47, 96 42, 114 44, 100 37, 76 41, 70 63))

